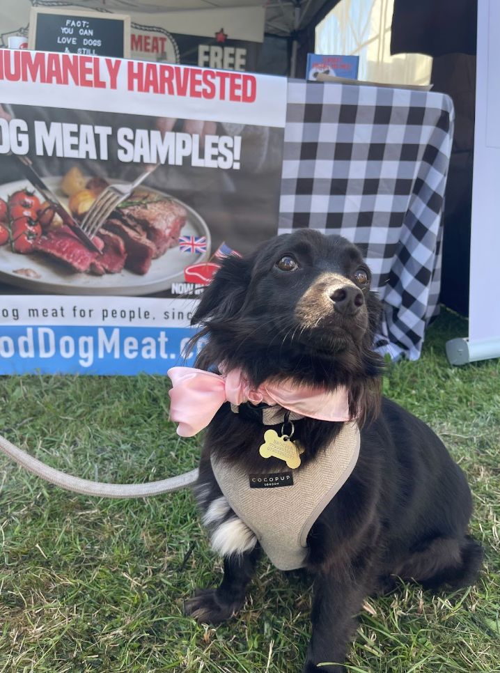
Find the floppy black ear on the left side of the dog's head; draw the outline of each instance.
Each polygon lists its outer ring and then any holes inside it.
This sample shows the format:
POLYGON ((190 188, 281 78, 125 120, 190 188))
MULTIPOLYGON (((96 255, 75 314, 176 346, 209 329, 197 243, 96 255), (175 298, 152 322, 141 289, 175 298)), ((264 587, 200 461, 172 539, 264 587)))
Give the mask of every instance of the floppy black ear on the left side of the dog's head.
POLYGON ((242 307, 251 279, 251 258, 230 255, 215 272, 210 285, 201 295, 191 324, 208 323, 211 319, 227 320, 242 307))

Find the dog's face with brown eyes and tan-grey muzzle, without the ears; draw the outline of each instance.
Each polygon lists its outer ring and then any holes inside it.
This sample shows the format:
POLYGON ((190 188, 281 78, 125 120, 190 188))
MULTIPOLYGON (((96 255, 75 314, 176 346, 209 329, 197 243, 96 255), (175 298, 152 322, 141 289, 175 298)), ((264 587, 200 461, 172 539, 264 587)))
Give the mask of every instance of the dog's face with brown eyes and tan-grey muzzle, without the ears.
POLYGON ((270 322, 285 341, 334 356, 366 334, 370 271, 345 239, 311 233, 279 241, 251 304, 276 314, 270 322))

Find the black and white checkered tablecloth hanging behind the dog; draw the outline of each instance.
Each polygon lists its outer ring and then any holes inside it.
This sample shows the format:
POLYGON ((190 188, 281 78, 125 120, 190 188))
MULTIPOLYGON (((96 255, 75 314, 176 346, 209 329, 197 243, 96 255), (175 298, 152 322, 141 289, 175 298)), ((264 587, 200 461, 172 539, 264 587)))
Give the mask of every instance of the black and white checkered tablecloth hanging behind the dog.
POLYGON ((441 93, 290 81, 279 232, 357 243, 384 301, 382 353, 417 359, 437 313, 453 103, 441 93))

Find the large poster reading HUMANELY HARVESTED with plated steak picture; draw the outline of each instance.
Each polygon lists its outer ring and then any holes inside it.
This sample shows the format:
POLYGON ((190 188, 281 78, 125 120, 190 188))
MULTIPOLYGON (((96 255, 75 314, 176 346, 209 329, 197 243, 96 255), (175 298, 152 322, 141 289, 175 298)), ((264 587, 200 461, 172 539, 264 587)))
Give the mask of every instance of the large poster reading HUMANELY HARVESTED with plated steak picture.
POLYGON ((0 374, 164 373, 277 231, 286 80, 0 49, 0 374))

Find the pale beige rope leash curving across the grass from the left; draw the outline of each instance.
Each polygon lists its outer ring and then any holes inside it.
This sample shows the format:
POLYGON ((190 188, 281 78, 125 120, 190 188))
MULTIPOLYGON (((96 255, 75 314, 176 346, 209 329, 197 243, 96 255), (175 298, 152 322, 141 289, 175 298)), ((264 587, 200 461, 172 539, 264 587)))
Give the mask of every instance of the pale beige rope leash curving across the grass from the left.
POLYGON ((159 481, 150 481, 146 484, 107 484, 103 481, 92 481, 91 479, 79 479, 73 477, 72 474, 65 474, 61 470, 55 470, 54 467, 45 465, 38 458, 33 458, 22 451, 15 444, 9 442, 5 437, 0 435, 0 450, 6 456, 13 458, 16 463, 26 467, 26 470, 36 474, 37 477, 49 481, 51 484, 65 488, 65 490, 72 490, 75 493, 83 495, 95 495, 97 497, 149 497, 150 495, 160 495, 161 493, 170 493, 173 490, 180 490, 192 486, 196 479, 198 479, 198 468, 178 474, 177 477, 169 477, 169 479, 161 479, 159 481))

